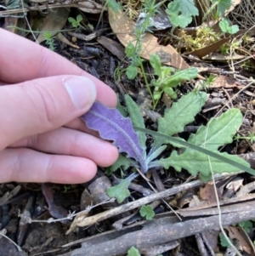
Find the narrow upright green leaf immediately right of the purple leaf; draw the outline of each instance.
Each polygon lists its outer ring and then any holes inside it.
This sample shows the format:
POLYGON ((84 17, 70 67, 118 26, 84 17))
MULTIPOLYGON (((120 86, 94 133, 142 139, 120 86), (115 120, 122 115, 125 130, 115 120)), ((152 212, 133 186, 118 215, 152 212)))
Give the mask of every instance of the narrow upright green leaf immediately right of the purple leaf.
MULTIPOLYGON (((133 126, 139 127, 139 128, 145 128, 144 125, 144 118, 142 116, 141 111, 139 110, 139 106, 136 105, 136 103, 132 100, 132 98, 125 94, 125 102, 127 105, 127 111, 129 113, 129 116, 131 118, 131 121, 133 122, 133 126)), ((144 150, 144 158, 146 157, 146 134, 138 132, 139 135, 139 142, 144 150)))

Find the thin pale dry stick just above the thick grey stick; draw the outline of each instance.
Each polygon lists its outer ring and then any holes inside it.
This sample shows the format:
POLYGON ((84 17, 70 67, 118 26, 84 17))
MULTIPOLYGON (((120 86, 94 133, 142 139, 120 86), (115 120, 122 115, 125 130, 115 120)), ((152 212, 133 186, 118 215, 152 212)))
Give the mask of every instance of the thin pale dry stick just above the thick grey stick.
MULTIPOLYGON (((226 176, 231 176, 231 174, 227 174, 227 175, 219 175, 216 174, 214 179, 218 180, 218 179, 223 179, 226 176)), ((150 196, 146 196, 144 198, 141 198, 139 200, 136 200, 134 202, 128 202, 127 204, 123 204, 117 208, 113 208, 111 210, 105 211, 103 213, 99 213, 96 214, 94 216, 90 216, 88 218, 86 218, 86 216, 84 217, 82 214, 78 214, 76 219, 74 219, 73 223, 71 224, 70 229, 66 232, 66 235, 70 234, 72 230, 74 230, 75 228, 77 228, 77 226, 79 227, 83 227, 83 226, 88 226, 88 225, 94 225, 95 223, 104 220, 104 219, 109 219, 113 216, 116 216, 117 214, 120 213, 125 213, 127 211, 130 211, 134 208, 139 208, 140 206, 144 205, 144 204, 148 204, 150 202, 159 200, 161 198, 167 197, 167 196, 173 196, 181 191, 187 191, 191 188, 194 188, 196 186, 199 185, 205 185, 207 182, 202 182, 201 180, 195 180, 192 181, 190 183, 184 184, 184 185, 179 185, 178 187, 174 187, 171 188, 167 191, 162 191, 156 194, 152 194, 150 196)))

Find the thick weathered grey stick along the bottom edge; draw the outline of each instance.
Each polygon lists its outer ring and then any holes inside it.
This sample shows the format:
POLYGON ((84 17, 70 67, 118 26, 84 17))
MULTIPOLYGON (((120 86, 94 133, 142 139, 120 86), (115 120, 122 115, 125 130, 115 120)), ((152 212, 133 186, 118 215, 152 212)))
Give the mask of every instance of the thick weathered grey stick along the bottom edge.
MULTIPOLYGON (((255 217, 254 202, 244 202, 237 204, 238 212, 225 213, 222 215, 222 225, 231 225, 255 217)), ((153 222, 153 220, 152 220, 153 222)), ((150 228, 129 232, 126 235, 119 236, 113 241, 100 242, 99 244, 90 244, 71 253, 65 253, 65 256, 89 255, 89 256, 114 256, 127 253, 130 247, 136 247, 139 250, 144 247, 156 246, 186 236, 192 236, 206 230, 218 229, 218 216, 207 218, 189 219, 176 224, 153 225, 150 228)), ((64 256, 62 255, 62 256, 64 256)))

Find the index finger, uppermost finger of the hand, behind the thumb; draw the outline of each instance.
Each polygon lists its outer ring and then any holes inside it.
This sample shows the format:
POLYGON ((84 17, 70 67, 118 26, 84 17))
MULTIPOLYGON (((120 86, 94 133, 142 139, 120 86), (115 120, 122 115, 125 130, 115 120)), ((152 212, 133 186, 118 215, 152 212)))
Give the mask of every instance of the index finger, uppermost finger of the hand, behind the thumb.
POLYGON ((71 61, 1 28, 0 38, 0 81, 16 83, 64 74, 84 76, 94 81, 98 93, 97 100, 108 106, 116 106, 116 94, 113 90, 71 61))

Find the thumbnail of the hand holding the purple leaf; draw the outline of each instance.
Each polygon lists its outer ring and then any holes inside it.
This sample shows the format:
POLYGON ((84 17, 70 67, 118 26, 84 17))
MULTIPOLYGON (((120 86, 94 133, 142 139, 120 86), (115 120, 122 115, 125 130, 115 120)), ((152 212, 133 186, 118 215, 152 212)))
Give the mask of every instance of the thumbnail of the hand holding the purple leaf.
POLYGON ((88 77, 69 77, 63 80, 72 103, 79 109, 90 107, 96 99, 94 82, 88 77))

